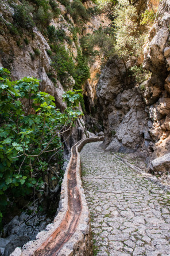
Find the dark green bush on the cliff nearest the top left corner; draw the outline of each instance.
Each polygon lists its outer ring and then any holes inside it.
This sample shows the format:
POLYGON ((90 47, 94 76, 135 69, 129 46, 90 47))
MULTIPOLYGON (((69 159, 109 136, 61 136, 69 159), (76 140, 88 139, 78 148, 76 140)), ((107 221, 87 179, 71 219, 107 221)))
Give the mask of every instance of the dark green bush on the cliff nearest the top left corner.
POLYGON ((35 24, 30 13, 33 11, 33 6, 29 5, 27 1, 22 1, 22 5, 14 6, 14 22, 21 28, 32 30, 35 24))

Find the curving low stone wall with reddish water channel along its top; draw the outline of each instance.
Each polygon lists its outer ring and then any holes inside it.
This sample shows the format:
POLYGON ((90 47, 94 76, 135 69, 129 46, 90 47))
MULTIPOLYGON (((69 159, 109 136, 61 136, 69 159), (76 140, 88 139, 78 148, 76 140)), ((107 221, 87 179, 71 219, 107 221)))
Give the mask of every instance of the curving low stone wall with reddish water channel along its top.
POLYGON ((92 255, 90 213, 80 177, 79 152, 88 142, 102 140, 103 137, 87 138, 72 147, 61 186, 59 213, 35 241, 29 241, 22 249, 17 247, 11 256, 92 255))

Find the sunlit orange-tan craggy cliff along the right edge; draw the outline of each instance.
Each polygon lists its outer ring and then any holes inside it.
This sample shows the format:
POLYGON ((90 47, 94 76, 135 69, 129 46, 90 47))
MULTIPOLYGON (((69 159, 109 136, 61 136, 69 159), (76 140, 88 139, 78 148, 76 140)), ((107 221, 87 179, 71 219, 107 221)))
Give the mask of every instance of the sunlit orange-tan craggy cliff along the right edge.
POLYGON ((144 67, 152 71, 144 100, 149 111, 148 131, 154 142, 154 158, 163 156, 170 150, 169 10, 170 1, 161 1, 159 22, 154 22, 144 48, 144 67))

